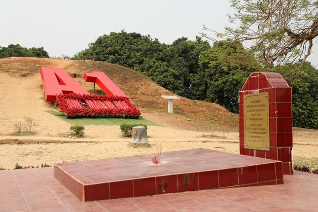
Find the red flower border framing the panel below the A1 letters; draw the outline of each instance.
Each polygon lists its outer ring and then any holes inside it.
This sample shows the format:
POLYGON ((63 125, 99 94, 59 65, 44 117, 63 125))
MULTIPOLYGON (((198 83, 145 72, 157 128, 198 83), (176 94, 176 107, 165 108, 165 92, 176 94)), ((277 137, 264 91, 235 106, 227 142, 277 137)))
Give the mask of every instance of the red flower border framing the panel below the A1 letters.
POLYGON ((136 108, 128 98, 117 96, 103 96, 103 95, 81 95, 81 94, 60 94, 56 97, 56 104, 59 105, 60 110, 66 114, 68 118, 139 118, 141 112, 136 108), (96 101, 123 101, 127 104, 128 108, 102 108, 93 109, 90 107, 71 108, 67 99, 77 100, 81 103, 85 103, 85 100, 96 101))

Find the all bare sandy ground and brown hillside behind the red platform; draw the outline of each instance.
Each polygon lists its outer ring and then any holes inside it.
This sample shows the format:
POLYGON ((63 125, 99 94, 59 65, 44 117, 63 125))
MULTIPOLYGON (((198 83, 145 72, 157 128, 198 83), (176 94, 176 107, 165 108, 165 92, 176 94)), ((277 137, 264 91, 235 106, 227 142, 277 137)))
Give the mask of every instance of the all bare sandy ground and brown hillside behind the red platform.
MULTIPOLYGON (((0 168, 12 169, 15 163, 52 165, 153 153, 156 142, 162 143, 163 151, 204 147, 238 153, 237 114, 217 104, 185 98, 174 102, 175 113, 170 114, 167 113, 167 100, 161 95, 174 94, 136 71, 109 63, 47 58, 0 59, 0 168), (164 127, 148 127, 150 148, 128 147, 129 139, 121 137, 119 126, 85 126, 84 138, 65 138, 63 135, 69 131, 70 124, 45 112, 53 105, 44 101, 41 66, 76 73, 79 77, 74 79, 89 91, 93 84, 82 79, 83 73, 104 71, 141 110, 143 118, 164 127), (36 134, 12 136, 14 124, 24 121, 24 117, 35 120, 36 134)), ((318 131, 295 129, 295 155, 317 157, 317 138, 318 131)))

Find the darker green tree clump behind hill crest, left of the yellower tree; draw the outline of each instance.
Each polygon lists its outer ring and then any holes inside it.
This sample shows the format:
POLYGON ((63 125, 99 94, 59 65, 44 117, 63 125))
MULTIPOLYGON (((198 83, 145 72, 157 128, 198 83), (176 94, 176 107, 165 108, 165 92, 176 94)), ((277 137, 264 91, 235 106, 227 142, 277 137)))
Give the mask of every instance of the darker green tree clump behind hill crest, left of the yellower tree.
POLYGON ((182 37, 166 45, 150 35, 121 31, 98 37, 73 59, 119 64, 143 73, 180 96, 194 98, 191 80, 199 67, 200 52, 208 48, 209 43, 200 37, 196 41, 182 37))

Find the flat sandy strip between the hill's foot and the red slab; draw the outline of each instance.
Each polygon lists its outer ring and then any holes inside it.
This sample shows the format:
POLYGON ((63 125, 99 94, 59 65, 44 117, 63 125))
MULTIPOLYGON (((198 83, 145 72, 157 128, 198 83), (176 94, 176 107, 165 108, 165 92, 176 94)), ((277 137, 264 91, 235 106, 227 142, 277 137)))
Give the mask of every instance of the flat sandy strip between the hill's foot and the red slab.
MULTIPOLYGON (((118 126, 104 126, 106 131, 114 132, 118 126)), ((208 134, 202 132, 178 131, 166 127, 149 127, 150 147, 133 148, 128 146, 130 139, 122 138, 119 130, 116 135, 107 138, 68 139, 58 137, 0 137, 0 167, 13 169, 15 164, 34 166, 41 164, 95 160, 138 154, 152 154, 155 146, 161 145, 163 151, 174 151, 192 148, 208 148, 213 150, 239 153, 238 133, 220 132, 208 134), (164 133, 162 133, 164 132, 164 133), (159 137, 160 134, 161 136, 159 137), (173 138, 175 137, 175 138, 173 138), (177 137, 177 138, 176 138, 177 137), (11 143, 10 143, 11 142, 11 143), (19 143, 19 144, 18 144, 19 143)), ((294 157, 318 157, 317 139, 309 140, 304 134, 317 136, 313 131, 295 131, 294 157)), ((316 137, 317 138, 317 137, 316 137)), ((150 161, 150 158, 149 158, 150 161)))

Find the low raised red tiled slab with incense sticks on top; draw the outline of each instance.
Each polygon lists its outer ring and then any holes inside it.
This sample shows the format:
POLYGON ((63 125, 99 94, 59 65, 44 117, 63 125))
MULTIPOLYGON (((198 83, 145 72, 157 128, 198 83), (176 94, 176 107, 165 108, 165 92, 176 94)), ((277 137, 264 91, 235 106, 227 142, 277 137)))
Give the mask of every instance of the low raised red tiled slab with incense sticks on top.
POLYGON ((57 164, 54 177, 82 201, 283 183, 282 162, 209 149, 57 164))

